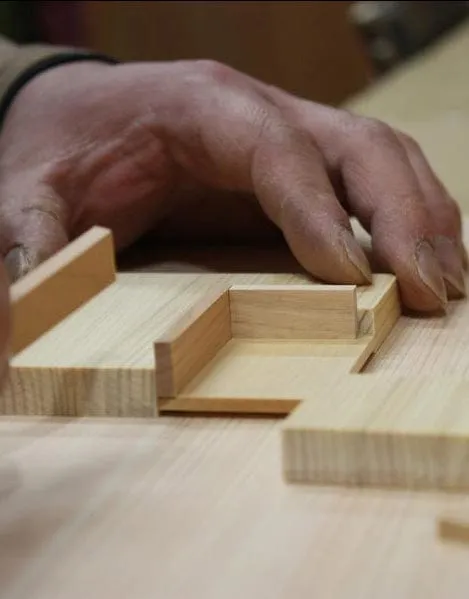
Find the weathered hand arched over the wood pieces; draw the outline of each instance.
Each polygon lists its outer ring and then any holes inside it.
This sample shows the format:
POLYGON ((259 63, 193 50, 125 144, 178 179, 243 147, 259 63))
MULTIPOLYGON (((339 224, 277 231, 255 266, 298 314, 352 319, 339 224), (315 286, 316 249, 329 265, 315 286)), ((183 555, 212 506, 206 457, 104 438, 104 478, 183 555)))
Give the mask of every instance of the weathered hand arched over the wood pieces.
POLYGON ((192 238, 281 231, 314 276, 366 284, 353 215, 408 308, 465 294, 458 207, 413 140, 217 63, 47 71, 7 114, 0 175, 0 252, 15 277, 93 224, 118 249, 164 225, 192 238))

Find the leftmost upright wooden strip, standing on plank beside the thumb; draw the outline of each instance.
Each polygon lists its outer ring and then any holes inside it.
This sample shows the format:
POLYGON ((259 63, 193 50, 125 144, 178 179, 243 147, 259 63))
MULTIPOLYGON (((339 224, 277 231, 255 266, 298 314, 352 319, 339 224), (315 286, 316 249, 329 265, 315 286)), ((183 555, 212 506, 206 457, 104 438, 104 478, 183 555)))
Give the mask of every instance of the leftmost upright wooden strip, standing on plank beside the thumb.
POLYGON ((11 286, 11 351, 20 352, 116 278, 112 234, 93 227, 11 286))

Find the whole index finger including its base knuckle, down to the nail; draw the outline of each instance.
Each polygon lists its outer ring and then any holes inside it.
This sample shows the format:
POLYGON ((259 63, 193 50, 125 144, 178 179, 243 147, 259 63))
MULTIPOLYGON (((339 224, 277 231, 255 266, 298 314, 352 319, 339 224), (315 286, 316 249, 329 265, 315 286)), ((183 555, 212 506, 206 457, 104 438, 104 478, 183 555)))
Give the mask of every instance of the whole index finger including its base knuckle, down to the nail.
POLYGON ((189 117, 175 129, 176 163, 205 186, 254 194, 313 276, 369 283, 368 261, 311 136, 229 68, 210 67, 208 77, 211 85, 194 92, 189 117), (210 87, 219 93, 208 102, 210 87))

